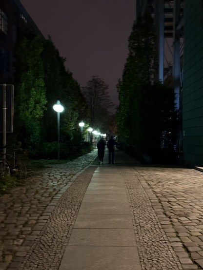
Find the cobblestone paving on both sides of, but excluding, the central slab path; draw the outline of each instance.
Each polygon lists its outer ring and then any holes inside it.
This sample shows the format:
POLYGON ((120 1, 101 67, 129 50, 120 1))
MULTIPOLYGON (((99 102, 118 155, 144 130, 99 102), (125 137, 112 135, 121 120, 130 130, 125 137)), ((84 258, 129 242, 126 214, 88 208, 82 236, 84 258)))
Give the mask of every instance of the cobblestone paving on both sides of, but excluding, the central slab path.
MULTIPOLYGON (((0 197, 0 270, 59 269, 96 155, 41 170, 0 197)), ((203 173, 144 167, 122 151, 103 166, 123 176, 142 270, 203 269, 203 173)))

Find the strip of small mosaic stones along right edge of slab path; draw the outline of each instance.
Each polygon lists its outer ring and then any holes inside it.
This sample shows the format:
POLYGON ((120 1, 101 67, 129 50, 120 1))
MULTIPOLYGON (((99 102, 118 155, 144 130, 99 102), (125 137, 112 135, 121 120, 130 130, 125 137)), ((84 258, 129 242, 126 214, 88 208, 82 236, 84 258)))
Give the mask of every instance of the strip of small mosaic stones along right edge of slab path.
POLYGON ((133 216, 142 270, 183 270, 152 207, 150 200, 157 200, 156 195, 147 184, 141 185, 130 169, 121 168, 121 174, 133 216))

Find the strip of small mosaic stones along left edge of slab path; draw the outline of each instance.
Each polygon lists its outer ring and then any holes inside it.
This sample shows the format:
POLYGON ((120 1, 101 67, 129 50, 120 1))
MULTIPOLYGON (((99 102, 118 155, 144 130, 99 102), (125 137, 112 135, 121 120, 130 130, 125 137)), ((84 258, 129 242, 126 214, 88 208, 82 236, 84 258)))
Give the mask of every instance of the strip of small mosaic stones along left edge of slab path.
POLYGON ((19 270, 59 269, 84 193, 95 169, 93 166, 87 168, 61 196, 19 270))

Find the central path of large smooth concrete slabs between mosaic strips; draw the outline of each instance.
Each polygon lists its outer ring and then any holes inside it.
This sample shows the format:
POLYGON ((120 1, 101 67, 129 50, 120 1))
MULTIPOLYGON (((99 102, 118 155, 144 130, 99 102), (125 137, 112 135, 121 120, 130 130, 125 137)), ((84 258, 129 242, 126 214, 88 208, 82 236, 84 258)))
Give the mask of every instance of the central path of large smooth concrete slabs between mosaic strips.
POLYGON ((59 270, 79 269, 141 270, 125 186, 115 167, 98 168, 84 194, 59 270))

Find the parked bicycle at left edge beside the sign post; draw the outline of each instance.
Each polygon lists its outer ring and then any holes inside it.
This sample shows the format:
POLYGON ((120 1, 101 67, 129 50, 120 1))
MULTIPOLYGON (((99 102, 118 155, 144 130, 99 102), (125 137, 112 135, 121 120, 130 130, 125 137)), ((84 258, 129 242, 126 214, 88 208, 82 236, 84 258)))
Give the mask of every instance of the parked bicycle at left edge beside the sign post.
POLYGON ((27 174, 24 161, 16 156, 16 151, 13 150, 13 154, 6 154, 6 158, 0 159, 0 176, 4 177, 7 174, 17 176, 19 178, 25 178, 27 174))

